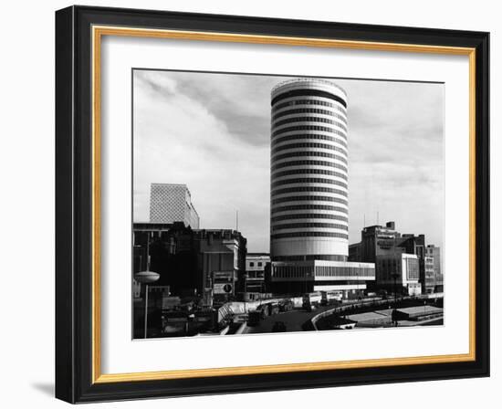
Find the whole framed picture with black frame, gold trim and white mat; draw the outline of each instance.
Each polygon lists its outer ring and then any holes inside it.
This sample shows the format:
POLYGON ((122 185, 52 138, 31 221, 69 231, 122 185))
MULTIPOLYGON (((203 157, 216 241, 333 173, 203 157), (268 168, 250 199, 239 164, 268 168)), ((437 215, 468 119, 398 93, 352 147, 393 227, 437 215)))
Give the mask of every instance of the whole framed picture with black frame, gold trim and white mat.
POLYGON ((488 33, 56 13, 56 395, 489 375, 488 33))

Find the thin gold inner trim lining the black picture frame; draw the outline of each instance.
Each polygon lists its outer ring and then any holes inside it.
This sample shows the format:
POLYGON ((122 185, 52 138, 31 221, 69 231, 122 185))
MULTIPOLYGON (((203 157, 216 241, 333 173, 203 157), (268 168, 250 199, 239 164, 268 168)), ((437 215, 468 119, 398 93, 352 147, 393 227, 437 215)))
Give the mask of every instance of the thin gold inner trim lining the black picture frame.
POLYGON ((254 36, 198 31, 92 26, 92 383, 153 381, 260 373, 305 372, 335 369, 385 367, 426 363, 468 362, 476 360, 476 49, 418 44, 382 43, 337 39, 254 36), (333 47, 373 51, 447 54, 469 58, 469 352, 403 358, 356 361, 306 362, 157 372, 101 373, 100 336, 100 115, 101 37, 150 37, 194 41, 270 44, 297 47, 333 47))

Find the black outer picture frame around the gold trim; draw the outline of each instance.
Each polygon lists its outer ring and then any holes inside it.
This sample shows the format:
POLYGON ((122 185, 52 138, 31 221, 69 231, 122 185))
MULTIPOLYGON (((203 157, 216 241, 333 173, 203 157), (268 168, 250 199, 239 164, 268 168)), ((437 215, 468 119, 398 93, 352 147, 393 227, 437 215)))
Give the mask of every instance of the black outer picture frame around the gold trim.
POLYGON ((56 397, 69 403, 489 376, 489 34, 70 6, 56 12, 56 397), (93 382, 92 26, 476 49, 476 359, 356 369, 93 382))

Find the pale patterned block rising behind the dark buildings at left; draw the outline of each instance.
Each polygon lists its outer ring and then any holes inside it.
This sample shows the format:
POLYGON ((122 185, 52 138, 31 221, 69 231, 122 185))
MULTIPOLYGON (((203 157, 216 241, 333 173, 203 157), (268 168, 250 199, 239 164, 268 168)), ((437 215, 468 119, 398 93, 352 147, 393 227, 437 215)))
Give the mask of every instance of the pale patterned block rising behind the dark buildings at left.
POLYGON ((150 222, 171 224, 183 222, 199 228, 199 215, 185 184, 152 184, 150 188, 150 222))

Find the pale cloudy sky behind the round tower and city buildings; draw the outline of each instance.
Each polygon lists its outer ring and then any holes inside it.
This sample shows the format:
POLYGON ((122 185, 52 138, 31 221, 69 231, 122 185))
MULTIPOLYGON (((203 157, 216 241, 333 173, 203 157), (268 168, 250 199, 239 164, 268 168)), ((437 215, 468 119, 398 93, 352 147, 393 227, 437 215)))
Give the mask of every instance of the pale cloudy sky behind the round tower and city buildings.
MULTIPOLYGON (((186 184, 201 228, 269 250, 270 89, 290 77, 133 72, 134 221, 150 184, 186 184)), ((393 220, 443 247, 444 86, 332 79, 348 94, 349 236, 393 220)))

